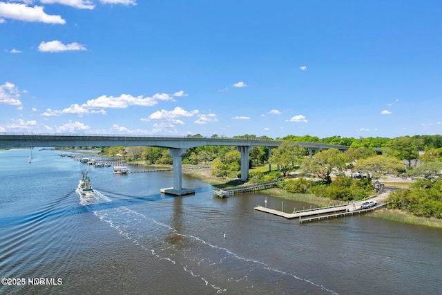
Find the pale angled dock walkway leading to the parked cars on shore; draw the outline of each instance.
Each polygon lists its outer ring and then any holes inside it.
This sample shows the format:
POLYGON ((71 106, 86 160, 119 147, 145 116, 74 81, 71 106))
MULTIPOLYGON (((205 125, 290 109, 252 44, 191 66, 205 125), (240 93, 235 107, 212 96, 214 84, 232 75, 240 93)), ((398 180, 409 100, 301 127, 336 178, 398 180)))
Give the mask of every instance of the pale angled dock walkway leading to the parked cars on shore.
POLYGON ((338 218, 343 216, 353 216, 355 214, 368 213, 372 212, 376 209, 385 206, 385 199, 388 197, 390 193, 381 193, 378 196, 372 196, 369 198, 365 198, 364 200, 360 200, 358 202, 352 202, 350 204, 332 206, 332 207, 323 207, 323 208, 314 208, 296 211, 294 213, 286 213, 282 211, 278 211, 276 209, 270 209, 267 207, 258 206, 254 209, 257 211, 262 211, 266 213, 271 213, 276 216, 281 216, 287 219, 299 218, 300 223, 312 222, 317 220, 329 219, 329 218, 338 218), (361 204, 366 202, 367 200, 376 200, 377 204, 375 207, 369 209, 361 209, 361 204))

